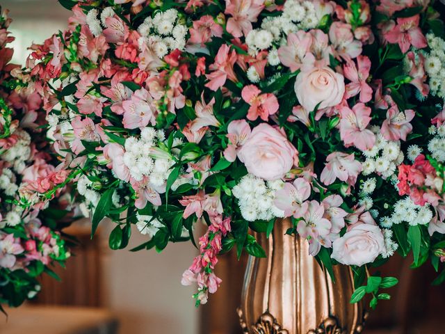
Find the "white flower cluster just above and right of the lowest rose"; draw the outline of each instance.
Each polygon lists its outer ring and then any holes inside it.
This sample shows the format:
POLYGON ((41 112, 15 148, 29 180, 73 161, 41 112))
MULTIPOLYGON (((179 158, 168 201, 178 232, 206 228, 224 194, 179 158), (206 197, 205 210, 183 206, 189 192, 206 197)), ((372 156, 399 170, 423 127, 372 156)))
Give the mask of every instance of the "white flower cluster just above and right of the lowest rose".
POLYGON ((383 228, 391 228, 393 224, 402 222, 410 225, 426 225, 432 219, 432 211, 430 205, 416 205, 409 198, 398 200, 394 205, 394 213, 391 216, 380 218, 380 225, 383 228))

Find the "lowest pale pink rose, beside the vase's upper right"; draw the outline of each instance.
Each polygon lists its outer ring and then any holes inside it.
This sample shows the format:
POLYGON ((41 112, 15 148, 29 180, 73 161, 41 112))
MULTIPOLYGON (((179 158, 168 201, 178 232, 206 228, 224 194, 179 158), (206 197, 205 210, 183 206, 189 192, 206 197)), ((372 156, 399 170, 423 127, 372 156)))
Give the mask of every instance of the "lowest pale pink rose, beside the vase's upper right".
POLYGON ((378 225, 357 223, 334 240, 331 257, 342 264, 362 266, 373 262, 384 250, 385 239, 378 225))

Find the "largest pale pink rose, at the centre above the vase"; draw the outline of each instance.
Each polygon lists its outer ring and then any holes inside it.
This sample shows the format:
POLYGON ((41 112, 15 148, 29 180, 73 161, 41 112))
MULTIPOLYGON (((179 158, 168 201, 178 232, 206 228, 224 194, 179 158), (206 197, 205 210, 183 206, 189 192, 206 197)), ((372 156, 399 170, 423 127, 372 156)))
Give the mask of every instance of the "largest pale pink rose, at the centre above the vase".
POLYGON ((261 123, 238 150, 248 172, 264 180, 278 180, 298 161, 298 151, 278 129, 261 123))

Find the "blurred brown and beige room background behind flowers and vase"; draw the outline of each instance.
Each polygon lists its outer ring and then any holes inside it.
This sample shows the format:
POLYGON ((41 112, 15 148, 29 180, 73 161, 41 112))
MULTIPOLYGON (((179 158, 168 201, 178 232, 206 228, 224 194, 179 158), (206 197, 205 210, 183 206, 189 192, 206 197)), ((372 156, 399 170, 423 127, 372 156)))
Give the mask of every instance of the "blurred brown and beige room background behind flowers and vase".
MULTIPOLYGON (((24 64, 33 42, 41 43, 65 29, 70 12, 56 0, 0 0, 14 19, 14 62, 24 64)), ((191 264, 196 250, 191 244, 170 244, 163 253, 109 250, 106 221, 90 240, 88 221, 65 230, 79 239, 66 269, 56 269, 61 282, 42 279, 38 298, 0 317, 1 334, 241 334, 236 317, 246 257, 221 257, 218 276, 223 278, 218 294, 209 304, 194 308, 195 287, 182 287, 181 274, 191 264)), ((145 240, 133 231, 131 245, 145 240)), ((403 278, 390 291, 393 299, 371 312, 366 334, 430 334, 442 329, 444 287, 430 287, 435 273, 428 264, 409 269, 410 260, 391 259, 382 269, 387 276, 403 278)), ((296 334, 296 333, 291 333, 296 334)))

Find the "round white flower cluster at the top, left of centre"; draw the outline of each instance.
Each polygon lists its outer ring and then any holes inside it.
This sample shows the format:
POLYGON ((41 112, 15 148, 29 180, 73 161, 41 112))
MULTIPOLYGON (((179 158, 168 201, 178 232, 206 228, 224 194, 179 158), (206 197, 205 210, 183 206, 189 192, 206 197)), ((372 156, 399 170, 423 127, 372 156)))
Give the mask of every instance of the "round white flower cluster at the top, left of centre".
POLYGON ((138 32, 147 38, 156 56, 163 58, 168 51, 184 50, 186 47, 187 26, 181 24, 181 19, 175 9, 158 12, 154 17, 147 17, 140 24, 138 32))

